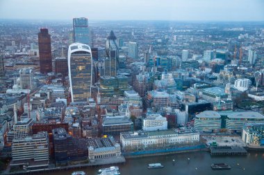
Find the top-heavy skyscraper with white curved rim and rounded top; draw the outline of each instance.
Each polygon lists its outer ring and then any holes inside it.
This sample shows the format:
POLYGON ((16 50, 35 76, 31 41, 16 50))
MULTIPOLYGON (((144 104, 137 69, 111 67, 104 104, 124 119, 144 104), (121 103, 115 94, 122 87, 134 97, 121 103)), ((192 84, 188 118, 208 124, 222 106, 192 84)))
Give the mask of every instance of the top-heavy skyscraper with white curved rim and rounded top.
POLYGON ((87 102, 92 86, 92 50, 81 43, 69 45, 69 84, 72 102, 87 102))

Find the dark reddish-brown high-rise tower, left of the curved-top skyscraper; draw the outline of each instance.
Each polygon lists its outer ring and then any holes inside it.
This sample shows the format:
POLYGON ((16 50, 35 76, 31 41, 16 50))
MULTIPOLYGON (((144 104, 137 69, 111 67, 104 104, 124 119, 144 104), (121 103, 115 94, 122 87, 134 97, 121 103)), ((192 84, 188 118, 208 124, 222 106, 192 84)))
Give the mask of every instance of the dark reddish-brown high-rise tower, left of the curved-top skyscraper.
POLYGON ((49 35, 47 28, 40 28, 38 49, 40 53, 40 73, 52 72, 51 35, 49 35))

